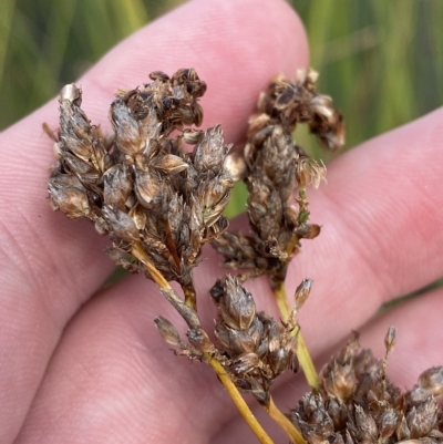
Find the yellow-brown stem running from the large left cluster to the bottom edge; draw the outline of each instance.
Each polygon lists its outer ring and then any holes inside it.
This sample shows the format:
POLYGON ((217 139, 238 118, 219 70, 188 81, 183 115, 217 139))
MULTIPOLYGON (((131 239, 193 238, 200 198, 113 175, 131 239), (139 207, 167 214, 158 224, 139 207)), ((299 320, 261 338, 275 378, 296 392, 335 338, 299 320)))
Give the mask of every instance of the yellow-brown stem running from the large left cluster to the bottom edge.
MULTIPOLYGON (((173 288, 169 286, 169 282, 163 277, 163 275, 157 270, 154 264, 151 262, 150 258, 147 257, 143 246, 140 242, 134 242, 131 252, 137 258, 147 269, 150 275, 152 276, 155 283, 161 288, 162 293, 165 298, 177 309, 179 314, 184 318, 186 323, 189 328, 199 327, 199 319, 196 311, 193 307, 189 307, 183 300, 176 296, 173 288)), ((195 291, 193 291, 195 297, 195 291)), ((248 404, 240 395, 237 386, 234 384, 229 375, 226 373, 224 366, 220 362, 213 357, 210 353, 205 352, 204 357, 209 365, 214 369, 217 373, 218 379, 225 386, 226 391, 229 393, 229 396, 233 399, 234 404, 237 406, 238 411, 240 412, 241 416, 245 419, 246 423, 249 425, 251 431, 255 433, 257 438, 261 444, 274 444, 272 440, 269 435, 265 432, 261 427, 260 423, 254 416, 253 412, 250 411, 248 404)))

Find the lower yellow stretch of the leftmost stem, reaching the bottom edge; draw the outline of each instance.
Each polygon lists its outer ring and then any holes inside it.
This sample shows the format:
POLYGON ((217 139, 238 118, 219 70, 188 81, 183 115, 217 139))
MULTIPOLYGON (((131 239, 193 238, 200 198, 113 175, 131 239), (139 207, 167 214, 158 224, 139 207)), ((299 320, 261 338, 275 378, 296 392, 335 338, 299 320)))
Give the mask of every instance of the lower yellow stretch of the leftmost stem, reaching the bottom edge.
MULTIPOLYGON (((233 399, 233 401, 236 404, 241 416, 245 419, 246 423, 249 425, 251 431, 255 433, 258 441, 262 444, 274 444, 272 440, 265 432, 261 424, 254 416, 254 413, 250 411, 249 405, 243 399, 243 396, 238 392, 236 385, 234 384, 234 382, 231 381, 229 375, 226 373, 223 365, 209 353, 205 353, 205 358, 206 358, 207 362, 210 364, 210 366, 217 373, 218 379, 222 381, 223 385, 225 385, 225 389, 229 393, 229 396, 233 399)), ((280 414, 282 414, 282 413, 280 412, 280 414)), ((289 422, 289 420, 287 420, 287 421, 289 422)))

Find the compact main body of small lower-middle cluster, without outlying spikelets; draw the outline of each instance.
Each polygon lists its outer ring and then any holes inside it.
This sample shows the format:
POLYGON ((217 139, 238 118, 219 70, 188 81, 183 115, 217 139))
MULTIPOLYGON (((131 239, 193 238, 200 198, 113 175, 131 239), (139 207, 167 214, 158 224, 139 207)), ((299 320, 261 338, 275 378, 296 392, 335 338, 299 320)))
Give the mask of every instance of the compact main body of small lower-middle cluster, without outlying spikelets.
POLYGON ((253 296, 229 275, 210 295, 218 307, 215 335, 225 365, 241 391, 267 403, 274 380, 287 369, 298 370, 296 323, 256 312, 253 296))

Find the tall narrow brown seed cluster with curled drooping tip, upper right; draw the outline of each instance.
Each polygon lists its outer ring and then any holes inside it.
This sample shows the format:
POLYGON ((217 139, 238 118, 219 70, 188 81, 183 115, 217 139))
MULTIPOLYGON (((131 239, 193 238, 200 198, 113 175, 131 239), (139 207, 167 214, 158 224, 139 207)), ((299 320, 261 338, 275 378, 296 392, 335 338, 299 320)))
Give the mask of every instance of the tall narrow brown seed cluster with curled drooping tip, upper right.
POLYGON ((307 123, 329 149, 344 143, 341 114, 331 106, 331 99, 317 93, 317 73, 299 72, 288 81, 276 76, 261 93, 258 110, 249 120, 248 141, 237 167, 248 189, 250 235, 228 233, 213 245, 226 257, 231 268, 266 272, 271 282, 285 280, 287 265, 299 249, 300 239, 312 239, 320 227, 308 224, 306 187, 318 186, 326 168, 309 158, 292 140, 298 123, 307 123), (299 198, 293 205, 293 192, 299 198))

